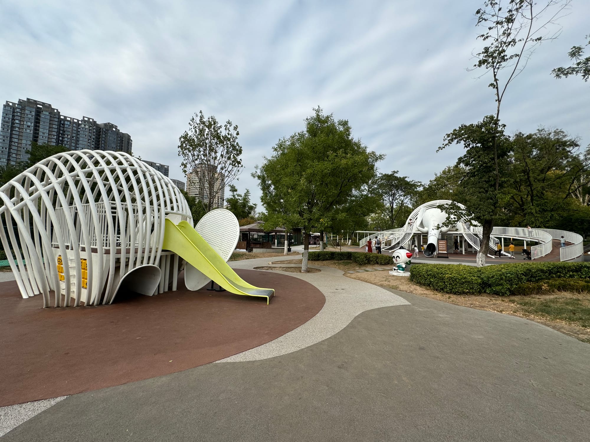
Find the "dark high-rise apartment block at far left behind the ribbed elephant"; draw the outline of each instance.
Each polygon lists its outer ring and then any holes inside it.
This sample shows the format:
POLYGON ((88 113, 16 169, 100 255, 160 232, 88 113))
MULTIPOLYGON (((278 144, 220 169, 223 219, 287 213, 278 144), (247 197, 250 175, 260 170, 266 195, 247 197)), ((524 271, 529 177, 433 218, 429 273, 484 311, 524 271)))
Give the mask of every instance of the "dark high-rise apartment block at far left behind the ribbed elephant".
POLYGON ((0 166, 27 160, 31 143, 65 146, 70 150, 122 150, 131 153, 132 140, 112 123, 66 117, 42 101, 6 101, 0 124, 0 166))

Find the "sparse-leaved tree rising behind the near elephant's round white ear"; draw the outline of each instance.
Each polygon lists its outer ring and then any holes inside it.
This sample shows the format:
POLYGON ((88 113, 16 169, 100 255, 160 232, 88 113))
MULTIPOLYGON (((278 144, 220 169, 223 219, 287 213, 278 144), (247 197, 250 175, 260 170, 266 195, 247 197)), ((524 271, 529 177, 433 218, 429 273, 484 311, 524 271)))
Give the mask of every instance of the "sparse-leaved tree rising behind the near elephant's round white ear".
POLYGON ((209 212, 221 189, 234 182, 243 166, 238 126, 227 120, 222 127, 217 118, 205 118, 202 111, 189 121, 189 130, 179 138, 178 154, 189 185, 197 187, 204 209, 209 212))

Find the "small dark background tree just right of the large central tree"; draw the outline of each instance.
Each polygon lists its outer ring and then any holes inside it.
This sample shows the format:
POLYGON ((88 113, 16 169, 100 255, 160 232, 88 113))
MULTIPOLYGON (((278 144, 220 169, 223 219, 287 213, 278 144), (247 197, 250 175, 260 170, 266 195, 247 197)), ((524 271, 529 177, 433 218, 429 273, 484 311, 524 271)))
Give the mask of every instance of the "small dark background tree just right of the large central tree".
POLYGON ((379 176, 377 187, 383 197, 391 228, 396 225, 400 212, 417 195, 421 186, 422 183, 418 181, 408 180, 407 176, 399 176, 397 170, 379 176))

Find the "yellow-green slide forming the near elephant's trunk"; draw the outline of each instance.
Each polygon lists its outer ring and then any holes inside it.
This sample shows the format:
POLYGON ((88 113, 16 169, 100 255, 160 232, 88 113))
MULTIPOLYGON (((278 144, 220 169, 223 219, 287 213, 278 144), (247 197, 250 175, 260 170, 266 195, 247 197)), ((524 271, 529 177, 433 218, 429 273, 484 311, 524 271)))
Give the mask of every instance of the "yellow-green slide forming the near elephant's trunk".
POLYGON ((176 253, 228 292, 266 298, 266 304, 274 296, 274 289, 258 288, 240 278, 186 221, 176 225, 166 218, 162 248, 176 253))

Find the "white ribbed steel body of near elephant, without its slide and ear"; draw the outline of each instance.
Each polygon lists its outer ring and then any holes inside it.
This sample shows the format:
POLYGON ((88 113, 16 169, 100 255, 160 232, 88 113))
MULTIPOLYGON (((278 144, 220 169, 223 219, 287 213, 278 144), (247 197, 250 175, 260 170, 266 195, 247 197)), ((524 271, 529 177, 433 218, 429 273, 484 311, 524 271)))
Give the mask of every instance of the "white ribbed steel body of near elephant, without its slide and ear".
POLYGON ((64 306, 113 302, 127 273, 171 261, 165 217, 192 223, 178 187, 123 152, 54 155, 2 186, 0 200, 0 241, 18 288, 23 298, 43 293, 45 307, 50 291, 55 306, 61 296, 64 306))

